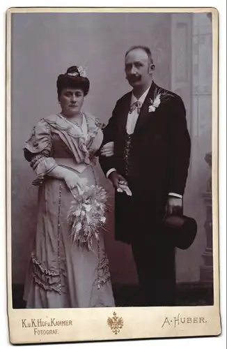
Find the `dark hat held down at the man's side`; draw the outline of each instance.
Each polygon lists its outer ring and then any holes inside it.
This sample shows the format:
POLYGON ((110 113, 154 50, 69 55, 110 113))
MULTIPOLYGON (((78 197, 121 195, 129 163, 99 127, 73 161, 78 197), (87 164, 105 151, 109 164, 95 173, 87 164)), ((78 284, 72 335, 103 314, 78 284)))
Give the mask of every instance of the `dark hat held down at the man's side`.
POLYGON ((197 223, 194 218, 169 215, 163 221, 164 234, 171 234, 175 247, 186 250, 196 238, 197 223))

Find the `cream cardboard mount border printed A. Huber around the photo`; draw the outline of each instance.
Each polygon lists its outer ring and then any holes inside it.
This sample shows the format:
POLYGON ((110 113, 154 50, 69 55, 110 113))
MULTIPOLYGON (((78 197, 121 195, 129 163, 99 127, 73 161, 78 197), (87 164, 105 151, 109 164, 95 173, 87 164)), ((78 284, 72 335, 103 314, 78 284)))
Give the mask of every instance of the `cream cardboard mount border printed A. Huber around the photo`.
POLYGON ((215 8, 10 8, 7 11, 7 285, 10 342, 52 343, 186 336, 218 336, 218 12, 215 8), (11 70, 12 16, 18 13, 210 13, 212 15, 212 221, 214 305, 97 309, 13 309, 11 257, 11 70))

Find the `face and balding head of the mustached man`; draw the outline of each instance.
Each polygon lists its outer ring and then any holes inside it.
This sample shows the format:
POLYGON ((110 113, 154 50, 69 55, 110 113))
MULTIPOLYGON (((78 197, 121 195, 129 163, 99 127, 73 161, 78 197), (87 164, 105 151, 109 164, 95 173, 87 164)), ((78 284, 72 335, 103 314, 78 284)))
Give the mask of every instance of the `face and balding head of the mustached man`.
POLYGON ((125 57, 125 74, 132 87, 140 87, 150 82, 150 61, 145 51, 138 48, 125 57))

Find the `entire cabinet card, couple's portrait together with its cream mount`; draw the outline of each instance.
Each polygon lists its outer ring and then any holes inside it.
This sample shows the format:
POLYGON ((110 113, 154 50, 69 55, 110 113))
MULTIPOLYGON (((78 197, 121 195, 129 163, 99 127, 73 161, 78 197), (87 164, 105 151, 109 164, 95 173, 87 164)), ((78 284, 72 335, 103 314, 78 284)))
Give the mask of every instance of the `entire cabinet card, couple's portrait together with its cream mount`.
POLYGON ((11 343, 220 333, 217 20, 8 10, 11 343))

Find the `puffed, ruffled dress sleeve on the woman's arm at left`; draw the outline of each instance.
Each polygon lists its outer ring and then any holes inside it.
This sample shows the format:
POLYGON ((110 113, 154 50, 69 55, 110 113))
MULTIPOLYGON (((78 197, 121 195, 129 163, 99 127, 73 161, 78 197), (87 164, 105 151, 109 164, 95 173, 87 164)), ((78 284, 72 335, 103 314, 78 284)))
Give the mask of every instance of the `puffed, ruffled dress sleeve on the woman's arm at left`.
POLYGON ((41 185, 45 175, 56 168, 57 164, 51 157, 51 153, 51 128, 45 119, 40 119, 38 124, 33 127, 29 139, 24 143, 24 157, 30 162, 31 168, 37 174, 33 185, 41 185))

